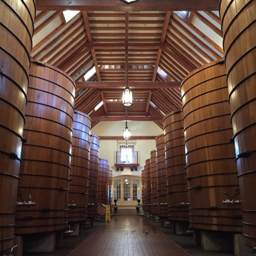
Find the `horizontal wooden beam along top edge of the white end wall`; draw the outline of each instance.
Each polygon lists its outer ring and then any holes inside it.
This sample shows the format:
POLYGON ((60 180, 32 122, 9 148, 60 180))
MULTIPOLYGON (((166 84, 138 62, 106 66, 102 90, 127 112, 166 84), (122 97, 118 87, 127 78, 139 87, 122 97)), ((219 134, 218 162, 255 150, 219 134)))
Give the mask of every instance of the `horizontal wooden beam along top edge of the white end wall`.
POLYGON ((162 116, 90 116, 91 121, 163 121, 162 116))

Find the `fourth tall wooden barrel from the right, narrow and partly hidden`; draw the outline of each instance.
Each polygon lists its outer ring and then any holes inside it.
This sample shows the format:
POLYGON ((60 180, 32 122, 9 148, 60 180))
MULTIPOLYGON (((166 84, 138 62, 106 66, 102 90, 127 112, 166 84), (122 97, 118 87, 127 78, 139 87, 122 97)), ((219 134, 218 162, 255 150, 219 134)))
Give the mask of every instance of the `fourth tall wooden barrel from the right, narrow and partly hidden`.
POLYGON ((155 137, 157 149, 157 191, 158 191, 158 216, 168 217, 168 199, 166 188, 166 163, 165 163, 165 137, 163 134, 155 137))

